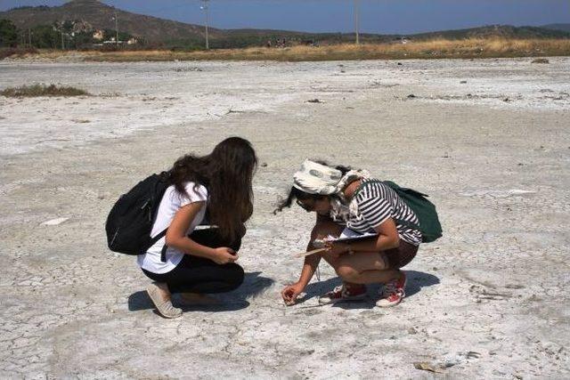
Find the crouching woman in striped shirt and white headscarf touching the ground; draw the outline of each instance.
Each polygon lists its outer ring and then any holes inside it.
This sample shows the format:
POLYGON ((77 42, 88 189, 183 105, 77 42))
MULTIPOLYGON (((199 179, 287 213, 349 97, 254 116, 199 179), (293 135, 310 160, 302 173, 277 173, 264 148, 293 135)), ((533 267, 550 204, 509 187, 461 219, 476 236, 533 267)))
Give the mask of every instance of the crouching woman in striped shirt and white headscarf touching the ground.
POLYGON ((294 174, 289 197, 277 208, 291 206, 293 200, 308 212, 316 212, 316 223, 307 251, 327 237, 374 233, 371 239, 352 243, 326 242, 327 251, 305 256, 297 283, 285 287, 281 295, 285 303, 296 302, 312 279, 321 257, 343 280, 319 298, 320 303, 360 300, 366 295, 365 284, 384 284, 380 307, 400 303, 405 295, 406 278, 400 270, 411 262, 421 242, 421 232, 411 225, 418 217, 402 198, 386 184, 372 179, 362 170, 336 168, 305 160, 294 174))

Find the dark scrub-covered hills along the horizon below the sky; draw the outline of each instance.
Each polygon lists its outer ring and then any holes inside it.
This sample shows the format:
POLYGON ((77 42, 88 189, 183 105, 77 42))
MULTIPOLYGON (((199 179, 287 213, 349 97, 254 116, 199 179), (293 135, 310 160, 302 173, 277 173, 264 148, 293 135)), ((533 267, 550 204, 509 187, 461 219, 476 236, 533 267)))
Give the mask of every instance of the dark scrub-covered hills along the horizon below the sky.
MULTIPOLYGON (((200 48, 204 40, 203 26, 164 20, 133 12, 121 11, 97 0, 72 0, 61 6, 25 6, 0 12, 0 20, 12 20, 24 31, 38 26, 51 26, 68 21, 79 25, 83 31, 92 29, 114 30, 114 15, 118 15, 118 29, 128 36, 136 36, 146 44, 167 48, 200 48)), ((569 24, 560 24, 568 26, 569 24)), ((549 26, 552 27, 552 26, 549 26)), ((558 27, 561 28, 561 27, 558 27)), ((70 28, 69 30, 71 30, 70 28)), ((75 28, 77 29, 77 28, 75 28)), ((106 36, 110 34, 107 33, 106 36)), ((235 48, 264 45, 267 41, 287 40, 287 44, 342 44, 354 41, 354 33, 306 33, 266 29, 220 29, 209 28, 210 46, 213 48, 235 48)), ((420 33, 405 36, 413 40, 487 38, 570 38, 570 32, 556 28, 486 26, 459 30, 420 33)), ((20 39, 25 39, 23 36, 20 39)), ((56 36, 51 37, 56 38, 56 36)), ((119 36, 120 38, 120 36, 119 36)), ((362 43, 385 43, 400 40, 403 35, 361 34, 362 43)), ((86 44, 91 42, 86 40, 86 44)), ((46 43, 47 44, 47 43, 46 43)), ((54 44, 52 41, 50 44, 54 44)), ((49 45, 49 44, 47 44, 49 45)), ((73 45, 73 44, 69 44, 73 45)), ((78 46, 79 44, 75 44, 78 46)), ((41 46, 39 46, 41 47, 41 46)))

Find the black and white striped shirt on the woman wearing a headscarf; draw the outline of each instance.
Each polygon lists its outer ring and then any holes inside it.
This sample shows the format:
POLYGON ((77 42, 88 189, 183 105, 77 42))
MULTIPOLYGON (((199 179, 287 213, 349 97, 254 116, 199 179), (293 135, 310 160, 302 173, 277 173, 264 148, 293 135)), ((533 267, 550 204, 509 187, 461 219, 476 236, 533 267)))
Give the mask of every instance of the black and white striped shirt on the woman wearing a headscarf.
MULTIPOLYGON (((372 180, 363 180, 362 183, 372 180)), ((378 180, 373 180, 378 181, 378 180)), ((388 218, 394 219, 396 229, 400 239, 407 241, 414 246, 421 243, 421 232, 404 226, 397 221, 412 222, 419 224, 418 217, 405 204, 402 198, 398 197, 395 190, 391 189, 384 183, 371 182, 362 187, 362 190, 356 194, 353 202, 356 202, 358 212, 351 214, 346 222, 346 227, 357 232, 373 232, 388 218)))

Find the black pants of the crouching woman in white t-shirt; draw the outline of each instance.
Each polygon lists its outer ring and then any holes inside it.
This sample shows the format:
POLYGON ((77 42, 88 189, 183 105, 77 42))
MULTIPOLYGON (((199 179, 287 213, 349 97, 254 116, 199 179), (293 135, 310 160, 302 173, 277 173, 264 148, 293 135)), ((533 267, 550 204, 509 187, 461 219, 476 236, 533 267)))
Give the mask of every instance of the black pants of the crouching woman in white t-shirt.
MULTIPOLYGON (((228 241, 222 239, 217 230, 194 231, 190 239, 206 247, 231 247, 236 252, 240 249, 241 239, 228 241)), ((157 274, 142 270, 144 274, 157 282, 167 284, 170 293, 224 293, 240 287, 243 282, 243 269, 236 263, 217 264, 202 257, 184 255, 175 269, 157 274)))

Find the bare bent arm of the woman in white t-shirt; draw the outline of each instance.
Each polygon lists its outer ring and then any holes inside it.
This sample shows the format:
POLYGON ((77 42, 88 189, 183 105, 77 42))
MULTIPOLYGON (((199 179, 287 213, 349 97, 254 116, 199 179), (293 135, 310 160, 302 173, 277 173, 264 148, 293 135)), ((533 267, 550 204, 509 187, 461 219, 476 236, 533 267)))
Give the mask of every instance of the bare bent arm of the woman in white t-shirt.
POLYGON ((204 202, 194 202, 190 205, 181 207, 175 214, 174 219, 170 223, 167 230, 166 244, 182 251, 186 255, 194 255, 210 259, 216 263, 232 263, 238 259, 238 255, 232 248, 210 248, 202 246, 186 236, 186 232, 191 222, 199 213, 200 208, 204 206, 204 202))

